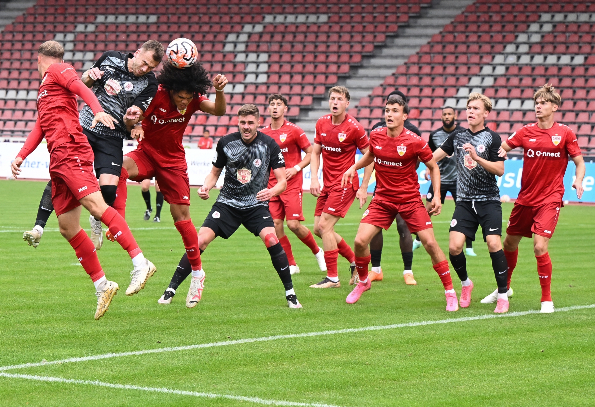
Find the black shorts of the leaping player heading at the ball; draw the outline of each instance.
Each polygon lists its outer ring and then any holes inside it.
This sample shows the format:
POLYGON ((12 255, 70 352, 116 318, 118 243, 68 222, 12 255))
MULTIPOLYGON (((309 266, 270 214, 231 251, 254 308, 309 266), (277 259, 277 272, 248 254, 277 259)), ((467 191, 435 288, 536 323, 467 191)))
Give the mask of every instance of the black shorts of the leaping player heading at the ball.
POLYGON ((87 136, 89 144, 95 154, 95 175, 99 178, 101 174, 112 174, 120 177, 122 170, 124 139, 120 137, 104 136, 104 134, 97 134, 83 129, 83 133, 87 136))

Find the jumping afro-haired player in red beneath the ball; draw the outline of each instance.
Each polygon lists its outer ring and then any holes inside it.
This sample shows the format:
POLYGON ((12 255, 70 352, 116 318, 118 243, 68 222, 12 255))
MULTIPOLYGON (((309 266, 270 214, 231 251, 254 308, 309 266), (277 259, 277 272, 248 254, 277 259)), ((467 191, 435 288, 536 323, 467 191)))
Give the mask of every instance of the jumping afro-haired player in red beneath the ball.
POLYGON ((214 78, 215 102, 203 96, 211 86, 211 80, 200 62, 185 69, 165 62, 157 82, 159 89, 142 116, 134 112, 134 108, 130 108, 124 116, 127 127, 131 129, 131 137, 139 139, 139 148, 124 155, 114 208, 124 214, 126 179, 142 181, 155 177, 165 201, 170 204, 174 225, 186 248, 170 286, 158 303, 171 303, 180 283, 192 274, 186 306, 193 308, 201 300, 205 272, 201 265, 198 234, 190 218, 190 181, 182 137, 196 111, 217 116, 225 114, 227 104, 223 88, 227 78, 221 74, 214 78), (142 125, 138 121, 142 121, 142 125))

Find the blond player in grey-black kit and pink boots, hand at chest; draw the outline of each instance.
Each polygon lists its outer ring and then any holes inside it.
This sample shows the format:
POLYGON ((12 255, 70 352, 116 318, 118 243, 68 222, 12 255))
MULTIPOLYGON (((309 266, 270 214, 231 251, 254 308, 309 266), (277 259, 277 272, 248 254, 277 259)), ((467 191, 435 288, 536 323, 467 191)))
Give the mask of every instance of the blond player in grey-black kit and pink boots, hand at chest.
POLYGON ((504 159, 498 155, 502 140, 500 136, 486 129, 484 120, 491 111, 491 101, 480 93, 471 93, 467 100, 467 122, 469 129, 452 132, 440 147, 434 151, 436 161, 447 155, 456 162, 456 206, 450 222, 450 262, 461 279, 461 308, 471 303, 473 282, 466 270, 463 245, 466 237, 475 239, 477 227, 481 225, 484 242, 490 252, 491 265, 498 285, 498 304, 494 312, 507 312, 506 257, 502 251, 502 204, 496 176, 504 174, 504 159))

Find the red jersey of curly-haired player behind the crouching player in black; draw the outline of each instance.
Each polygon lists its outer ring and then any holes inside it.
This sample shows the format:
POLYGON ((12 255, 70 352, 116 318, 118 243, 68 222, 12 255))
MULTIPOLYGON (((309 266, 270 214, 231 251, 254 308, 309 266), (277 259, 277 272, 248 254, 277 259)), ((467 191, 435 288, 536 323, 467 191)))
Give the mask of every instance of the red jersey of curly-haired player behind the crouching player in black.
MULTIPOLYGON (((261 132, 267 134, 267 136, 273 137, 273 140, 277 142, 283 153, 283 158, 285 159, 285 168, 292 168, 295 167, 296 164, 299 164, 302 161, 302 150, 311 146, 308 137, 306 137, 306 133, 304 133, 300 127, 287 120, 283 120, 283 126, 277 130, 271 129, 271 126, 269 125, 265 126, 261 132)), ((275 177, 273 170, 271 170, 271 175, 268 179, 268 188, 271 188, 276 184, 277 177, 275 177)), ((301 191, 302 184, 302 171, 299 171, 299 173, 287 181, 286 191, 301 191)))

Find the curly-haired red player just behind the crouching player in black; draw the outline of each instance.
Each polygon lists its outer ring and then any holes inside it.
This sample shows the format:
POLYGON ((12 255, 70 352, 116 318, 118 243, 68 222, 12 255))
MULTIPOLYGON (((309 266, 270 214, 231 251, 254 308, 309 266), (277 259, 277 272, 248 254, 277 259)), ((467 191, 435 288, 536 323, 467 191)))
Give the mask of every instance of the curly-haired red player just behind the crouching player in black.
MULTIPOLYGON (((281 195, 273 196, 268 202, 268 209, 275 223, 277 239, 281 242, 283 250, 287 253, 289 260, 289 271, 291 274, 299 273, 299 267, 293 258, 292 245, 283 230, 283 220, 287 220, 287 227, 308 246, 318 261, 320 271, 326 271, 324 262, 324 251, 314 240, 312 232, 300 221, 305 220, 302 211, 302 169, 310 164, 312 156, 312 145, 306 137, 306 133, 295 124, 285 120, 287 112, 287 98, 279 93, 268 97, 268 112, 271 115, 271 124, 261 130, 267 136, 273 137, 280 146, 283 158, 285 158, 285 177, 287 189, 281 195), (302 151, 306 155, 302 159, 302 151)), ((268 179, 268 188, 277 184, 277 178, 271 170, 268 179)))

